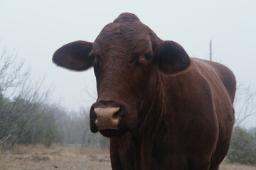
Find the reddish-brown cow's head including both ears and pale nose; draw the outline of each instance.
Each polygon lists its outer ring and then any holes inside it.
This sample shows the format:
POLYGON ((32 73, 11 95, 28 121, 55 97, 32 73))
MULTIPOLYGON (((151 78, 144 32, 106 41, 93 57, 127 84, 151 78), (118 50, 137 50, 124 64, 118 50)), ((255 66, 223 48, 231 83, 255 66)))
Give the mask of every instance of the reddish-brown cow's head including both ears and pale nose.
POLYGON ((190 59, 181 45, 160 40, 137 16, 122 13, 95 42, 75 41, 60 47, 53 62, 75 71, 94 68, 98 98, 90 109, 90 128, 110 137, 137 128, 153 74, 181 72, 190 59))

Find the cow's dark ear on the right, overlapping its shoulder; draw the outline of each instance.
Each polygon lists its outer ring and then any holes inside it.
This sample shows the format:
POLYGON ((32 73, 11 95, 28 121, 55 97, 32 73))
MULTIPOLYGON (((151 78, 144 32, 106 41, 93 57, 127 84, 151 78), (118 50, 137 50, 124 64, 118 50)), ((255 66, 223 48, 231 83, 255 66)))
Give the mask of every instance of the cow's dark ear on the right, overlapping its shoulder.
POLYGON ((164 41, 154 50, 154 63, 162 72, 176 73, 186 69, 191 60, 186 51, 174 41, 164 41))

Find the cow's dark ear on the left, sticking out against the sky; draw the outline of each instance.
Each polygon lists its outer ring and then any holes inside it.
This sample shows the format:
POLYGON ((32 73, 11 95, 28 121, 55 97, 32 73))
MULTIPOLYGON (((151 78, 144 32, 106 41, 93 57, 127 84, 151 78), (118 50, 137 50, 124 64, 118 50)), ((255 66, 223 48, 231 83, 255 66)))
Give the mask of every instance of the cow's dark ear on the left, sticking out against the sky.
POLYGON ((63 45, 53 54, 53 62, 65 69, 83 71, 92 67, 93 57, 89 54, 93 43, 86 41, 74 41, 63 45))

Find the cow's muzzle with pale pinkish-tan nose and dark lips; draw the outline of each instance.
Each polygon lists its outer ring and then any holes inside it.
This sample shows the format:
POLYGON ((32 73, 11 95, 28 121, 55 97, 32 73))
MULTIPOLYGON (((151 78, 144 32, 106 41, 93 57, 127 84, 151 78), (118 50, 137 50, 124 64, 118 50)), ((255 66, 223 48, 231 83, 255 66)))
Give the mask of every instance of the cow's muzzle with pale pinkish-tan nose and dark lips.
POLYGON ((137 125, 136 111, 122 101, 97 101, 90 109, 90 130, 106 137, 122 136, 137 125), (133 114, 134 113, 134 114, 133 114))

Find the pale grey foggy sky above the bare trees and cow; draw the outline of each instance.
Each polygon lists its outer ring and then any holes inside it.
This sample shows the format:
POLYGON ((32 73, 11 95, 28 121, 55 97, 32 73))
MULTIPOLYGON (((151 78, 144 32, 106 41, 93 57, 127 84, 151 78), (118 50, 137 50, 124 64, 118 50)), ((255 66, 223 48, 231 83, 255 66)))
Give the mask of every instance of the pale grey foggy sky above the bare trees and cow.
MULTIPOLYGON (((74 40, 93 42, 120 13, 135 13, 162 40, 181 44, 190 57, 233 70, 238 84, 256 89, 256 1, 12 1, 0 0, 0 48, 14 50, 33 74, 55 87, 54 96, 69 110, 89 107, 96 95, 95 77, 55 67, 53 52, 74 40), (87 94, 90 91, 90 95, 87 94)), ((255 103, 256 104, 256 103, 255 103)), ((256 118, 245 121, 255 125, 256 118)))

